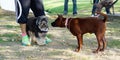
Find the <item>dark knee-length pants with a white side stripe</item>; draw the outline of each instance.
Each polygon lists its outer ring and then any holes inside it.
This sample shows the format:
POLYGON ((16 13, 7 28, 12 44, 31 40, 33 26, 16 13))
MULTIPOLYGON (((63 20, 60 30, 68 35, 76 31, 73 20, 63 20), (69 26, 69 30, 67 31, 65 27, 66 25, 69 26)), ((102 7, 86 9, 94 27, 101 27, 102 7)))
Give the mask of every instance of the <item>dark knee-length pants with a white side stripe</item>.
POLYGON ((15 0, 17 22, 27 23, 29 10, 33 11, 35 17, 45 15, 42 0, 15 0))

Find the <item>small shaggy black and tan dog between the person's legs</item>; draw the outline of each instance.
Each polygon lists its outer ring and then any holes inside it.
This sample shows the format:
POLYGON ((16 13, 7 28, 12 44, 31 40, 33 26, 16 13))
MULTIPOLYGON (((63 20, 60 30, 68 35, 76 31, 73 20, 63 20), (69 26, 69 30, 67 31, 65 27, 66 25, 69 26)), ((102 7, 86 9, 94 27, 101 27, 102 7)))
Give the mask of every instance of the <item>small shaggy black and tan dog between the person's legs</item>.
POLYGON ((31 17, 26 24, 26 32, 30 37, 30 41, 36 42, 38 45, 45 44, 45 36, 48 32, 48 18, 46 16, 31 17))

